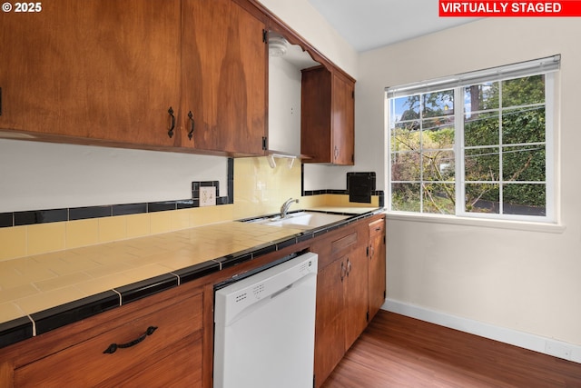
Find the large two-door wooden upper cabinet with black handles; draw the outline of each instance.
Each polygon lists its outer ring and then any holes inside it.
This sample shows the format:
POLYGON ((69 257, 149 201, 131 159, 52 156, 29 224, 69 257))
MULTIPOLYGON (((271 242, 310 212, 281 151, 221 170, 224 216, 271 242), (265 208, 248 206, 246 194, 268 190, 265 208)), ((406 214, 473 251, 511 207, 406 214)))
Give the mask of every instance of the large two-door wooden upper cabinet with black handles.
POLYGON ((53 0, 42 7, 0 14, 0 130, 264 154, 266 16, 251 5, 53 0))

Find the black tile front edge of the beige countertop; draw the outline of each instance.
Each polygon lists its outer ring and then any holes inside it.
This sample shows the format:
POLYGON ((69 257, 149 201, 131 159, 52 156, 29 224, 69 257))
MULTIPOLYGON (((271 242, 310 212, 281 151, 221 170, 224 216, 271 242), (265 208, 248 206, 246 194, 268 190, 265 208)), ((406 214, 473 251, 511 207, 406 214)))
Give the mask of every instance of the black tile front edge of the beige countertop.
MULTIPOLYGON (((213 260, 182 268, 168 274, 162 274, 133 284, 123 285, 114 288, 113 290, 97 293, 38 313, 32 313, 28 316, 16 318, 12 321, 0 323, 0 349, 13 343, 32 338, 36 335, 50 332, 51 330, 67 324, 84 320, 97 313, 104 313, 113 308, 132 303, 155 293, 169 290, 173 287, 179 286, 180 284, 192 282, 193 280, 200 279, 203 276, 222 271, 225 268, 250 261, 263 254, 270 254, 271 252, 279 251, 282 248, 310 240, 347 224, 352 224, 372 215, 379 214, 382 211, 383 208, 381 207, 363 214, 316 211, 319 213, 351 216, 337 223, 327 224, 319 228, 293 234, 272 243, 257 245, 248 250, 228 254, 223 257, 217 257, 213 260)), ((261 218, 263 217, 266 216, 261 216, 261 218)), ((251 219, 255 218, 257 217, 251 219)), ((243 222, 251 219, 240 221, 243 222)))

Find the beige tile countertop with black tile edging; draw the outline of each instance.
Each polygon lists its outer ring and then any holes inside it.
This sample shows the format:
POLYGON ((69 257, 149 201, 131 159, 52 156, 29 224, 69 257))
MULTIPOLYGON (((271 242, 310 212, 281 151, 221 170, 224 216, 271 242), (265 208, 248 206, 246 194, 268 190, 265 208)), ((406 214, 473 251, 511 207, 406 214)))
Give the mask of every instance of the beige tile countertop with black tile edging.
MULTIPOLYGON (((353 215, 350 222, 382 209, 309 210, 353 215)), ((0 262, 0 348, 294 244, 299 236, 312 233, 232 221, 0 262)))

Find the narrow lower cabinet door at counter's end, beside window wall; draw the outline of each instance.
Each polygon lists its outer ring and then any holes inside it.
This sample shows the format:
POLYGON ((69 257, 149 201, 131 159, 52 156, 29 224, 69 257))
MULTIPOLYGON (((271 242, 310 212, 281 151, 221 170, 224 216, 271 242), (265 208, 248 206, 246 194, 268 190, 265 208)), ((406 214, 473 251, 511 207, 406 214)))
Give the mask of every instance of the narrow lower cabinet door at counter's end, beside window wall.
POLYGON ((369 320, 385 303, 385 261, 385 218, 381 218, 369 224, 369 320))

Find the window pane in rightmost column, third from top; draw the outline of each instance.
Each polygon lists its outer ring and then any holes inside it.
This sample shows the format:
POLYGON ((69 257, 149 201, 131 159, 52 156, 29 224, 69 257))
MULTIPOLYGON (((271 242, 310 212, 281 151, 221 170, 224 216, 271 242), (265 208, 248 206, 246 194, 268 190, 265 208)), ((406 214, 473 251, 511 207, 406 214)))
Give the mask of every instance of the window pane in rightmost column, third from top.
POLYGON ((545 146, 505 147, 502 175, 505 181, 545 182, 545 146))

